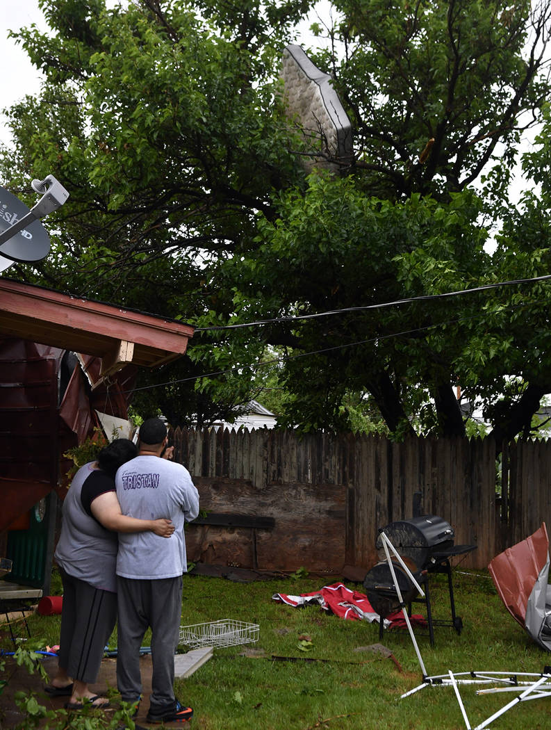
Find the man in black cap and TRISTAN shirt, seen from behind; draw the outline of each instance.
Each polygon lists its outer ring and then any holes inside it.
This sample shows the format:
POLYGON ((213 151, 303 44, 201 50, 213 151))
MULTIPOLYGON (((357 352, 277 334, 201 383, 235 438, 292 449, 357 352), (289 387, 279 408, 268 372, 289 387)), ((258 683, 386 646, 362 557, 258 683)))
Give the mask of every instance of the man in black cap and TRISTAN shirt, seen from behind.
MULTIPOLYGON (((153 663, 149 723, 185 721, 193 715, 174 696, 174 653, 182 614, 182 573, 186 571, 184 523, 199 514, 199 493, 187 469, 161 458, 168 439, 160 418, 139 429, 139 453, 117 472, 123 515, 170 518, 168 539, 152 532, 120 534, 117 555, 117 685, 125 702, 139 702, 142 679, 139 648, 151 627, 153 663)), ((167 454, 165 454, 167 456, 167 454)))

